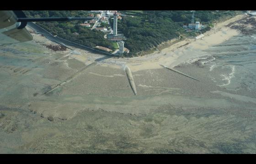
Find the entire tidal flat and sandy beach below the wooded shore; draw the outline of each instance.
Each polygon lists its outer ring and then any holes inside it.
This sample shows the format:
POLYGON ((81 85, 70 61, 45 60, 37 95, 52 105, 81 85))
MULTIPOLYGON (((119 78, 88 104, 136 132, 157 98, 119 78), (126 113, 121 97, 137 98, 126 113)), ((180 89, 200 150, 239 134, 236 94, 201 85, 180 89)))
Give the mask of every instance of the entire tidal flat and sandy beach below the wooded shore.
POLYGON ((256 153, 255 34, 231 26, 247 17, 133 58, 0 45, 0 153, 256 153))

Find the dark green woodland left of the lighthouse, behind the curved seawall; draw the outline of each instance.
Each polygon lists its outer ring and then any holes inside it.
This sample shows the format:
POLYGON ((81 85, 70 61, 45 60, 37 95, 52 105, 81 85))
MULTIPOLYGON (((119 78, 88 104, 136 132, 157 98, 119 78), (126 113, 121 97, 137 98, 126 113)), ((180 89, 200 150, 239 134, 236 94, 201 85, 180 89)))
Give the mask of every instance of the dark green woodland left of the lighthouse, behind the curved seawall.
MULTIPOLYGON (((88 13, 82 11, 25 11, 25 14, 33 17, 48 17, 48 16, 88 16, 88 13)), ((39 26, 50 31, 53 35, 58 35, 69 41, 74 41, 84 46, 95 47, 104 46, 109 49, 114 49, 112 43, 104 38, 104 33, 101 31, 91 30, 88 27, 80 26, 83 21, 52 21, 38 22, 39 26), (76 32, 79 35, 74 35, 76 32)))

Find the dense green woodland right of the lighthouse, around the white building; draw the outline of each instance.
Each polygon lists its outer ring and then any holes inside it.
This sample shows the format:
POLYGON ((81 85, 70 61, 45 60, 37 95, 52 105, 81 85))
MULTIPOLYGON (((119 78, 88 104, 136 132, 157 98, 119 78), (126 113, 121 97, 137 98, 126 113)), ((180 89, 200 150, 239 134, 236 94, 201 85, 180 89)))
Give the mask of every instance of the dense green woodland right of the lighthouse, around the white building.
MULTIPOLYGON (((171 40, 185 34, 182 25, 191 23, 191 11, 121 11, 123 14, 134 15, 134 17, 123 17, 118 22, 118 31, 122 32, 128 39, 125 47, 132 53, 149 50, 159 45, 163 41, 171 40)), ((235 11, 216 12, 216 11, 196 11, 195 21, 201 21, 204 25, 212 23, 221 17, 235 15, 235 11)), ((112 24, 112 20, 111 20, 112 24)), ((211 24, 212 25, 212 24, 211 24)), ((210 30, 207 26, 201 32, 210 30)), ((193 36, 193 34, 187 34, 193 36)))

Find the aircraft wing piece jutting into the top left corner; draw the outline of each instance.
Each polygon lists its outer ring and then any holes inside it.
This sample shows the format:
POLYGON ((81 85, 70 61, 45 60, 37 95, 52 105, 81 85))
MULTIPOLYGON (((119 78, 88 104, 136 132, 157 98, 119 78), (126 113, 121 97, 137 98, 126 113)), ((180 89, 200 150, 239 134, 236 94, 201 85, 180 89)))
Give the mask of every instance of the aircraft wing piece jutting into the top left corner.
POLYGON ((31 41, 33 37, 13 11, 0 10, 0 44, 31 41))

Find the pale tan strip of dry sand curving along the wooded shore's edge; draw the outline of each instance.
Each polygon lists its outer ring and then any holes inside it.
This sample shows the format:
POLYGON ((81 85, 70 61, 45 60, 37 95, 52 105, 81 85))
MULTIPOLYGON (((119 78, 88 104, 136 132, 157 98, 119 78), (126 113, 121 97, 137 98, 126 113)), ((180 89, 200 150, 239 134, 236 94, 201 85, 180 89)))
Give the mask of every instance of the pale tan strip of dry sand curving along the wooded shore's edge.
MULTIPOLYGON (((144 56, 128 58, 120 58, 113 56, 111 58, 104 59, 104 61, 100 62, 99 64, 103 67, 113 68, 120 68, 124 67, 124 65, 127 65, 128 67, 130 67, 132 72, 137 72, 139 70, 162 68, 159 64, 164 64, 167 67, 175 67, 180 63, 187 62, 189 60, 192 60, 193 58, 198 58, 203 55, 198 52, 201 52, 202 50, 205 50, 210 46, 220 44, 223 41, 228 40, 232 36, 238 35, 239 31, 235 29, 230 29, 229 27, 227 27, 227 25, 240 19, 243 19, 244 17, 246 17, 246 15, 236 15, 231 19, 215 23, 214 27, 210 31, 205 32, 204 36, 200 39, 186 38, 181 41, 174 39, 173 41, 171 41, 174 42, 171 46, 168 46, 160 51, 154 51, 153 53, 144 56)), ((45 38, 45 36, 37 35, 36 37, 34 37, 34 41, 42 41, 42 39, 50 41, 49 39, 45 38)), ((74 56, 76 60, 79 60, 80 62, 85 62, 85 64, 90 64, 91 62, 93 62, 93 60, 105 56, 98 53, 85 51, 83 49, 76 47, 72 48, 74 48, 75 51, 79 51, 81 53, 80 55, 71 54, 69 56, 74 56), (85 59, 90 59, 90 62, 85 61, 85 59)))

